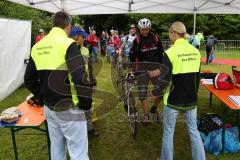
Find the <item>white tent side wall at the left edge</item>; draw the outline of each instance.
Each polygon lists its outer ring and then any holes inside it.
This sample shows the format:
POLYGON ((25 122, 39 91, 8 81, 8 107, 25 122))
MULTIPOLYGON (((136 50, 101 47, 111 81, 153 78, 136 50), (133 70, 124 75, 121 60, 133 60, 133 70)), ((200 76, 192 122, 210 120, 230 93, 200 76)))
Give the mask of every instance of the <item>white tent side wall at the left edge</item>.
POLYGON ((31 21, 0 18, 0 100, 23 84, 31 47, 31 21))

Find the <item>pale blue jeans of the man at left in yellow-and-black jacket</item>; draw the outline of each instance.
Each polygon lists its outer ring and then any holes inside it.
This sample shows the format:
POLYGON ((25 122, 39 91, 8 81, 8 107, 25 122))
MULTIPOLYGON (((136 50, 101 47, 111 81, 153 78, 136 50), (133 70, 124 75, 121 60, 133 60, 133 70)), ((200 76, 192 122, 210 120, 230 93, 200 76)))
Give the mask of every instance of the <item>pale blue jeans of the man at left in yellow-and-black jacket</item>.
MULTIPOLYGON (((66 160, 68 149, 71 160, 89 160, 86 120, 61 119, 57 114, 68 116, 67 111, 56 113, 46 106, 44 112, 51 141, 51 159, 66 160)), ((71 109, 71 113, 80 115, 83 111, 71 109)))

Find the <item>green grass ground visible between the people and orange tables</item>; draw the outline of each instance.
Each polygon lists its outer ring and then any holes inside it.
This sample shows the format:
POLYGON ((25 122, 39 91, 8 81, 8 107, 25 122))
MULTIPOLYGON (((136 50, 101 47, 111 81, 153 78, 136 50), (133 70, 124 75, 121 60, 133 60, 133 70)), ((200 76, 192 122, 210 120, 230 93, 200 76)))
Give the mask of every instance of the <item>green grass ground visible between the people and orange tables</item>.
MULTIPOLYGON (((222 58, 221 55, 217 57, 222 58)), ((225 57, 228 59, 240 59, 240 56, 225 57)), ((118 102, 116 84, 112 82, 111 67, 105 58, 102 63, 95 64, 95 72, 98 80, 96 98, 98 120, 95 123, 100 137, 89 137, 89 156, 92 160, 155 160, 159 157, 162 142, 162 123, 151 123, 143 126, 138 123, 138 133, 134 140, 131 137, 129 123, 123 121, 124 111, 118 102)), ((213 72, 231 72, 229 66, 202 65, 202 70, 213 72)), ((0 102, 0 111, 9 106, 15 106, 22 102, 29 92, 20 88, 7 99, 0 102)), ((200 87, 198 115, 205 112, 222 113, 220 102, 214 97, 213 106, 208 106, 209 93, 200 87)), ((151 101, 149 101, 151 103, 151 101)), ((141 108, 138 105, 138 110, 141 108)), ((162 107, 160 109, 162 112, 162 107)), ((182 119, 180 115, 179 119, 182 119)), ((231 120, 230 120, 231 121, 231 120)), ((33 130, 25 130, 21 133, 37 133, 33 130)), ((45 136, 18 135, 17 147, 21 160, 47 160, 47 143, 45 136)), ((179 120, 176 125, 175 137, 175 160, 191 160, 191 147, 186 126, 179 120)), ((9 129, 0 129, 0 160, 13 160, 13 149, 9 129)), ((207 153, 207 160, 239 160, 240 154, 223 154, 216 157, 207 153)))

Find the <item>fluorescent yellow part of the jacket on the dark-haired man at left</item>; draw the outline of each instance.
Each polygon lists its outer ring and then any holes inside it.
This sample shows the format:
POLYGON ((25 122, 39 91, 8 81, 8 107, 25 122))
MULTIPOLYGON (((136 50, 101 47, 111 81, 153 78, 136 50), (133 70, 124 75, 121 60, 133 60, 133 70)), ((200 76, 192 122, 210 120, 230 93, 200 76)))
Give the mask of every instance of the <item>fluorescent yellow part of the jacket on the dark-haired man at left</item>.
MULTIPOLYGON (((65 55, 68 47, 74 42, 68 38, 66 32, 58 27, 52 28, 50 33, 32 48, 31 57, 35 62, 37 70, 68 70, 65 55)), ((78 104, 76 90, 69 74, 71 84, 72 100, 78 104)))

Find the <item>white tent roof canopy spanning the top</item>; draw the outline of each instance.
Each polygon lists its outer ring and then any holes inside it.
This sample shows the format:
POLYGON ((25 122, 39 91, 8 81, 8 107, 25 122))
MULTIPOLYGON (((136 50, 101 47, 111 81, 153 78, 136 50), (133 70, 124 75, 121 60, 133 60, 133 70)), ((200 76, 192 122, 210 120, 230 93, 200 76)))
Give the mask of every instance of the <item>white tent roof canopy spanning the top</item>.
POLYGON ((71 15, 126 13, 240 14, 240 0, 9 0, 48 12, 71 15))

